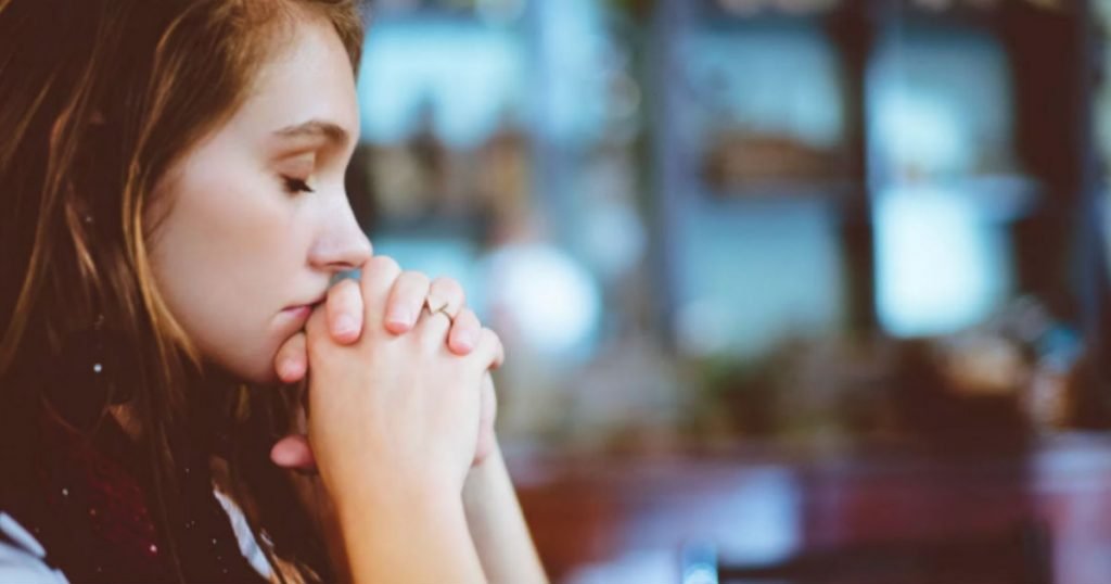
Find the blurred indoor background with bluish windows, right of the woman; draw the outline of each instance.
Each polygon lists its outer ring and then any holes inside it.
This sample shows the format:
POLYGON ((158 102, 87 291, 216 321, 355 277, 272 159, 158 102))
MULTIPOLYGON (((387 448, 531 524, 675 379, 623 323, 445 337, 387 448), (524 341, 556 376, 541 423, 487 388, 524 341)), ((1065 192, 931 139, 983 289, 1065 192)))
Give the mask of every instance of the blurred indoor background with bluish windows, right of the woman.
POLYGON ((1109 26, 371 3, 352 204, 502 335, 556 582, 1111 582, 1109 26))

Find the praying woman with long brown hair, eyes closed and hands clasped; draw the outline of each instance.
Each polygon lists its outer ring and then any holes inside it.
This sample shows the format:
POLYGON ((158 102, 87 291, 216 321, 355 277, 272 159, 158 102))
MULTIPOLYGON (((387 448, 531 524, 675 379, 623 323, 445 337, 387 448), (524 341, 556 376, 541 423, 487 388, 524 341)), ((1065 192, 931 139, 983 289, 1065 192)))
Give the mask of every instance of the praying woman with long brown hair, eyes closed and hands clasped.
POLYGON ((347 202, 354 4, 0 0, 0 580, 544 580, 497 336, 347 202))

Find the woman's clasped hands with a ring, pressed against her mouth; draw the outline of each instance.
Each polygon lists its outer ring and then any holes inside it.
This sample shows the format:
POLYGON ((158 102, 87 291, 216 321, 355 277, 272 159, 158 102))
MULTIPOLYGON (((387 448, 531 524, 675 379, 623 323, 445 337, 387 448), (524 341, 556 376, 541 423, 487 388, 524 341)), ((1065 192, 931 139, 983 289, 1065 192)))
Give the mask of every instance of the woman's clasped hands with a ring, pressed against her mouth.
POLYGON ((319 471, 326 484, 392 464, 403 478, 461 487, 497 447, 489 372, 503 359, 458 281, 376 256, 359 280, 333 285, 274 357, 283 383, 308 378, 310 415, 308 435, 279 441, 271 459, 319 471))

